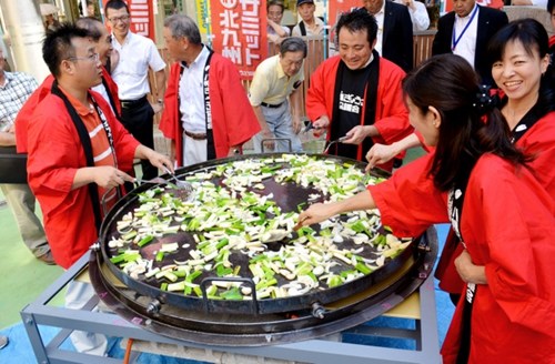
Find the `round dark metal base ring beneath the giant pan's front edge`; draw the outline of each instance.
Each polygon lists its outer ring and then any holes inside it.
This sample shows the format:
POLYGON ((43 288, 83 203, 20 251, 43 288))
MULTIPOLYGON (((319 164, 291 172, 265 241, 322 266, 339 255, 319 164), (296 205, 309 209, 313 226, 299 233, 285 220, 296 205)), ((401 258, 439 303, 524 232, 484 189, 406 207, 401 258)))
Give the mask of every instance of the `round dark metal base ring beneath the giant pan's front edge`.
POLYGON ((102 301, 118 315, 150 332, 188 342, 221 346, 261 346, 326 336, 365 323, 412 294, 430 275, 437 253, 433 226, 423 234, 422 254, 408 260, 386 281, 323 307, 322 315, 303 310, 273 314, 225 314, 157 304, 125 287, 102 262, 90 256, 89 274, 102 301), (424 249, 425 247, 425 249, 424 249))

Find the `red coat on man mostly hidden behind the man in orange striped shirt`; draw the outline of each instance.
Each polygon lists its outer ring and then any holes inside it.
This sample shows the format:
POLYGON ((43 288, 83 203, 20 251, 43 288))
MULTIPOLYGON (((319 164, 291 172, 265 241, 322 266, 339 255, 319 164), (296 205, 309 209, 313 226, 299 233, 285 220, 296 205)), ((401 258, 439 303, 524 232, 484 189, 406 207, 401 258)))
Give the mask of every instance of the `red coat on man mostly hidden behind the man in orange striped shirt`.
MULTIPOLYGON (((118 114, 121 115, 120 98, 118 97, 118 85, 113 81, 107 69, 102 67, 102 78, 108 84, 108 92, 112 95, 118 114)), ((27 124, 31 119, 37 105, 44 99, 52 89, 54 77, 49 74, 37 90, 29 97, 16 118, 16 145, 18 153, 27 153, 27 124)), ((108 101, 108 100, 107 100, 108 101)))

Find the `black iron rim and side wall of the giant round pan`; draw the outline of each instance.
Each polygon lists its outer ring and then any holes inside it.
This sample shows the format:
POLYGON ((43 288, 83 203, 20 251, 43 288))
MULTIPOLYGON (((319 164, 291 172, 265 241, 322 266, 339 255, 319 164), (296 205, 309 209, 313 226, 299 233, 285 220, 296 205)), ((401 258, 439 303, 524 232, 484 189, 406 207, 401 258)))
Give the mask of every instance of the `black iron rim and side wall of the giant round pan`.
MULTIPOLYGON (((282 153, 246 154, 228 159, 212 160, 204 163, 199 163, 188 168, 180 169, 176 171, 175 174, 178 176, 185 176, 203 170, 211 170, 218 165, 226 164, 233 161, 240 161, 246 159, 279 158, 281 155, 282 153)), ((365 166, 364 163, 353 161, 346 158, 341 158, 335 155, 331 156, 324 154, 310 154, 310 155, 316 156, 317 159, 332 160, 335 163, 354 164, 356 168, 360 169, 364 169, 365 166)), ((373 172, 373 173, 377 175, 380 172, 373 172)), ((382 176, 384 174, 382 173, 382 176)), ((407 261, 411 257, 417 257, 416 255, 420 254, 417 250, 420 239, 416 239, 402 254, 386 262, 384 266, 382 266, 380 270, 376 270, 369 275, 362 276, 360 279, 347 282, 336 287, 309 291, 306 294, 300 296, 291 296, 284 299, 264 299, 264 300, 256 300, 256 297, 253 296, 252 301, 222 301, 222 300, 209 300, 205 297, 205 295, 204 297, 198 297, 193 295, 185 296, 181 293, 165 292, 161 291, 157 286, 143 282, 141 279, 134 280, 131 279, 128 274, 123 273, 118 266, 115 266, 110 262, 110 256, 112 256, 112 254, 110 252, 110 249, 108 247, 108 242, 112 236, 112 234, 114 234, 115 232, 115 223, 120 221, 125 213, 133 210, 138 205, 138 196, 137 196, 138 193, 144 192, 152 188, 153 186, 151 184, 150 185, 144 184, 134 189, 124 198, 122 198, 120 201, 118 201, 118 203, 107 214, 101 225, 100 240, 99 240, 101 252, 103 255, 103 261, 105 262, 110 271, 128 287, 145 296, 152 297, 155 302, 160 302, 162 304, 168 303, 170 305, 175 305, 184 310, 228 313, 228 314, 230 313, 269 314, 269 313, 292 312, 296 310, 307 310, 314 307, 314 305, 326 305, 331 302, 336 302, 346 296, 364 291, 370 286, 372 286, 373 284, 386 280, 391 274, 397 271, 398 267, 405 263, 405 261, 407 261)), ((306 190, 302 190, 301 188, 299 186, 295 188, 293 185, 287 185, 284 188, 274 183, 273 188, 274 190, 272 192, 274 193, 274 200, 276 202, 280 201, 285 205, 289 204, 293 209, 296 209, 296 204, 300 201, 306 201, 307 193, 310 193, 306 192, 306 190)), ((291 211, 291 209, 289 211, 291 211)), ((182 234, 186 235, 185 233, 182 234)), ((195 242, 193 239, 191 239, 191 236, 189 236, 186 241, 188 243, 191 244, 192 247, 194 247, 193 244, 195 244, 195 242)), ((350 242, 347 241, 345 242, 345 244, 346 243, 350 242)), ((186 257, 183 256, 182 259, 186 257)), ((248 261, 248 256, 244 256, 244 260, 248 261)), ((248 270, 241 270, 241 271, 245 272, 248 270)), ((209 277, 202 276, 202 277, 203 281, 201 282, 201 286, 204 287, 208 284, 210 284, 211 281, 223 281, 223 279, 216 277, 215 275, 212 277, 210 276, 209 277)), ((233 281, 241 281, 241 282, 246 281, 245 284, 252 285, 252 283, 249 283, 249 281, 251 281, 250 279, 238 279, 238 280, 233 279, 233 281)))

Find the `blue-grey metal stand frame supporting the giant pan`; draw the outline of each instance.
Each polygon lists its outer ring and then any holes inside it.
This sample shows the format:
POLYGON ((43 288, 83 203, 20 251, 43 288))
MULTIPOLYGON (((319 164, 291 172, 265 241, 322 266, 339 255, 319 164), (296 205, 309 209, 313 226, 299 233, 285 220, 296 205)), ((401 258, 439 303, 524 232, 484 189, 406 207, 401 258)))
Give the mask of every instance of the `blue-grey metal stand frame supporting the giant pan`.
MULTIPOLYGON (((292 344, 244 347, 244 346, 210 346, 189 343, 161 336, 143 328, 134 326, 123 318, 101 312, 91 312, 99 299, 93 297, 85 310, 69 310, 56 307, 48 303, 56 296, 71 280, 87 269, 89 253, 84 254, 73 266, 62 274, 52 285, 50 285, 34 302, 27 305, 21 311, 27 334, 31 342, 37 362, 47 363, 120 363, 121 360, 110 357, 99 357, 82 353, 75 353, 60 348, 60 345, 68 338, 73 330, 81 330, 94 333, 102 333, 114 337, 132 337, 147 342, 174 344, 196 348, 208 348, 242 355, 263 356, 269 358, 306 362, 306 363, 441 363, 437 321, 435 310, 435 294, 433 276, 430 275, 420 292, 420 314, 421 320, 416 322, 415 328, 390 328, 359 326, 346 332, 361 335, 385 336, 395 338, 410 338, 416 342, 416 350, 401 350, 379 347, 362 344, 351 344, 329 340, 309 340, 292 344), (59 334, 49 343, 44 343, 39 332, 39 325, 61 327, 59 334)), ((408 318, 407 318, 408 320, 408 318)), ((341 336, 341 335, 340 335, 341 336)), ((140 353, 134 352, 134 361, 140 353)))

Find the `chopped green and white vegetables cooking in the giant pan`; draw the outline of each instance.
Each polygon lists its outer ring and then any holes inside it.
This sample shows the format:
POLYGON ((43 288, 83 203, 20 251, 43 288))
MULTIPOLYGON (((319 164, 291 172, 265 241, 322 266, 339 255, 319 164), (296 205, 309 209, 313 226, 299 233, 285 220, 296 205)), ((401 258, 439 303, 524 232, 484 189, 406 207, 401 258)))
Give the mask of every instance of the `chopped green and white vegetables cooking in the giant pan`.
MULTIPOLYGON (((370 274, 411 243, 389 233, 376 210, 294 232, 303 203, 283 211, 266 189, 294 184, 306 191, 304 200, 325 202, 380 181, 351 163, 283 154, 232 161, 186 180, 194 201, 150 189, 117 222, 109 242, 112 263, 162 290, 202 296, 203 277, 250 277, 259 300, 302 295, 370 274)), ((206 289, 214 300, 248 300, 252 293, 242 282, 213 281, 206 289)))

